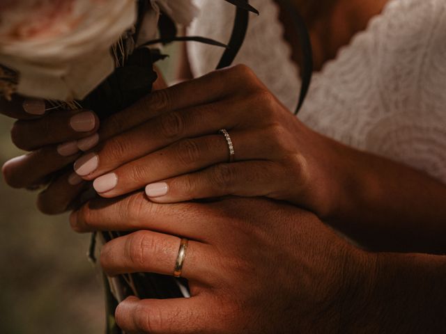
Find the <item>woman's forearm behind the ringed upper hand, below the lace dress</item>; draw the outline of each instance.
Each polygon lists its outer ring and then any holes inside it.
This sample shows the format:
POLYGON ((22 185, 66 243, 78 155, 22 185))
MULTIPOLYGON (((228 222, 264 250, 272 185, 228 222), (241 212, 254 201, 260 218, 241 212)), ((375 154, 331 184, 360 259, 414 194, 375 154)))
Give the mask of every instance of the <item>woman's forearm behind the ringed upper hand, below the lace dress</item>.
POLYGON ((328 221, 374 250, 446 252, 446 186, 342 145, 337 205, 328 221))

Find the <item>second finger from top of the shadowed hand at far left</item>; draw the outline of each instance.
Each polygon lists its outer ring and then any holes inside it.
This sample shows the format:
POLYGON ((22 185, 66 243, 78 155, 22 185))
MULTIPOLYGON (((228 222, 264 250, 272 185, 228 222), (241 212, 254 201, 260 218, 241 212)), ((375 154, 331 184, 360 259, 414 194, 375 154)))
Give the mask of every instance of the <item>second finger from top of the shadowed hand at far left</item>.
POLYGON ((55 111, 36 120, 18 120, 11 137, 18 148, 30 151, 91 136, 98 127, 99 119, 93 111, 55 111))

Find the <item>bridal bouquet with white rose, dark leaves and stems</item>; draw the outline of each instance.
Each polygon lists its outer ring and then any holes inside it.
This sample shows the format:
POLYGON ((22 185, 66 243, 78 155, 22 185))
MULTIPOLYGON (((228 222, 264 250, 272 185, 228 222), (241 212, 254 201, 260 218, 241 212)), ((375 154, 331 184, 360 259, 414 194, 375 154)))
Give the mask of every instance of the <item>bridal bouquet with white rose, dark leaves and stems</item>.
MULTIPOLYGON (((0 98, 35 97, 55 109, 82 107, 107 118, 151 93, 162 45, 192 40, 224 47, 218 67, 230 65, 245 37, 248 12, 256 10, 247 0, 224 1, 236 6, 227 45, 177 35, 178 26, 197 15, 192 0, 1 0, 0 98)), ((100 237, 106 242, 119 235, 100 237)), ((187 294, 187 282, 151 273, 106 279, 105 285, 107 333, 121 333, 114 308, 126 296, 187 294)))

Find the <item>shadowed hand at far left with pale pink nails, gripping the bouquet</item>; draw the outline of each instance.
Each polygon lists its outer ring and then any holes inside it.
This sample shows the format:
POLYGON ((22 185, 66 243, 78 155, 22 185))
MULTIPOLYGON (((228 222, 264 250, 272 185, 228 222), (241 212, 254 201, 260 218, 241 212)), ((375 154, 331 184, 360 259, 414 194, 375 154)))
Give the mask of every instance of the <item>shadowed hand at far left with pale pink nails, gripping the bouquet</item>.
MULTIPOLYGON (((155 90, 167 87, 158 74, 155 90)), ((46 214, 59 214, 79 202, 87 184, 74 173, 72 163, 99 143, 100 122, 95 113, 55 109, 43 100, 19 95, 10 102, 0 99, 0 113, 17 119, 11 130, 13 143, 28 151, 7 161, 2 168, 3 176, 14 188, 32 190, 47 186, 38 196, 38 207, 46 214)), ((102 140, 130 129, 139 121, 126 120, 109 119, 109 126, 105 127, 107 136, 102 132, 102 140)))

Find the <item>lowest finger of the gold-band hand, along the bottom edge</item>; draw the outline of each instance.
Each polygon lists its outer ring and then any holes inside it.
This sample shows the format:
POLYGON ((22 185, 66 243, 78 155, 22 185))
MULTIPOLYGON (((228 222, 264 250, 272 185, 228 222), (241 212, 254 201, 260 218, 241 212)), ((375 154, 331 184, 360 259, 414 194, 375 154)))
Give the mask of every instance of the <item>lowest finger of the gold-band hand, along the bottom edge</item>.
MULTIPOLYGON (((215 299, 214 299, 215 300, 215 299)), ((207 296, 189 299, 125 299, 116 308, 116 323, 126 333, 219 333, 218 308, 207 296)))

